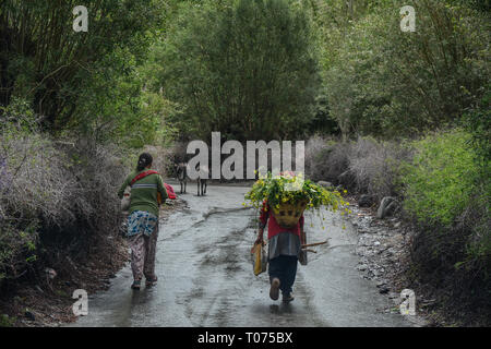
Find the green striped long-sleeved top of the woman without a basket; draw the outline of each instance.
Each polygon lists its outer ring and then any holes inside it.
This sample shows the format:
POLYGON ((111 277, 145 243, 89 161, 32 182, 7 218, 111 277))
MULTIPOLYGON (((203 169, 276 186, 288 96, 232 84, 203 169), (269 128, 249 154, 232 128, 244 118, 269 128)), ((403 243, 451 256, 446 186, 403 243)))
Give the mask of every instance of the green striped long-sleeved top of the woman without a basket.
MULTIPOLYGON (((148 169, 143 169, 141 171, 131 172, 124 183, 118 191, 118 196, 123 197, 124 190, 130 185, 131 181, 140 173, 147 171, 148 169)), ((130 214, 135 210, 146 210, 158 217, 158 202, 157 192, 161 194, 163 202, 168 197, 166 188, 164 186, 164 181, 160 174, 148 174, 141 180, 134 182, 131 188, 130 196, 130 214)))

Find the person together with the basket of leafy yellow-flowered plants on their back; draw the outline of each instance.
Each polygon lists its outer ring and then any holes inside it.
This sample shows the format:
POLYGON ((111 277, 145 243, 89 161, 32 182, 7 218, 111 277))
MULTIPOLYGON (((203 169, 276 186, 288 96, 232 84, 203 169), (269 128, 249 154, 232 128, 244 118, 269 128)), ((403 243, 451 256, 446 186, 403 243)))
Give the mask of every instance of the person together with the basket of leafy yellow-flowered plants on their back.
MULTIPOLYGON (((270 297, 277 300, 279 290, 283 301, 294 300, 292 286, 297 274, 297 262, 306 244, 303 210, 326 206, 337 210, 347 205, 339 192, 328 191, 302 174, 285 172, 273 177, 268 173, 260 178, 246 194, 252 205, 260 208, 260 228, 254 244, 263 243, 267 224, 270 297)), ((348 212, 347 208, 345 208, 348 212)))

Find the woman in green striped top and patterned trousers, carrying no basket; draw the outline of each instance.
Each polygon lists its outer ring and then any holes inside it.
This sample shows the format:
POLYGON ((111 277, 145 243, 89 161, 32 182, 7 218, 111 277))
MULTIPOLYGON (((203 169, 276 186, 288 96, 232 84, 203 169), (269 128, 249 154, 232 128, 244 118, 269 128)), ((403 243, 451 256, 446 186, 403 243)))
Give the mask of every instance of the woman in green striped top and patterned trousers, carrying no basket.
POLYGON ((156 285, 155 253, 158 237, 158 194, 161 202, 167 198, 164 181, 156 171, 149 170, 153 158, 148 153, 140 155, 136 170, 131 172, 121 185, 118 196, 131 186, 128 217, 128 237, 131 248, 132 289, 139 290, 142 277, 146 287, 156 285))

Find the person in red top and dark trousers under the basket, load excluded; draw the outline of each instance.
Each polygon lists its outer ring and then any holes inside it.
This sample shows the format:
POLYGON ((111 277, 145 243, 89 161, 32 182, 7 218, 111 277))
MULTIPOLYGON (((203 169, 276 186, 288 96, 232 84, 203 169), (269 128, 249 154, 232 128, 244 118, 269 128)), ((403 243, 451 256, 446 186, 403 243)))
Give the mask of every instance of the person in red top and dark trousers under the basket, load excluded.
POLYGON ((289 303, 295 299, 292 286, 297 275, 298 255, 301 252, 304 218, 302 215, 295 228, 283 228, 270 213, 271 207, 264 203, 255 243, 263 242, 264 228, 267 224, 270 297, 276 301, 279 298, 279 290, 282 290, 283 301, 289 303))

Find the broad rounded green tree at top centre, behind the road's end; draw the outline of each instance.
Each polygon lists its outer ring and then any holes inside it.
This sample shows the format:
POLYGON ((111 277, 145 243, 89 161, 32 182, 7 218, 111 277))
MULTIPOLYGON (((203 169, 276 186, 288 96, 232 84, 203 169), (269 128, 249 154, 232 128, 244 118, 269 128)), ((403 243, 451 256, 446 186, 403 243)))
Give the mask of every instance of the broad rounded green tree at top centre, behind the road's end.
POLYGON ((318 74, 311 21, 287 0, 182 7, 156 48, 159 84, 184 135, 297 139, 314 116, 318 74))

